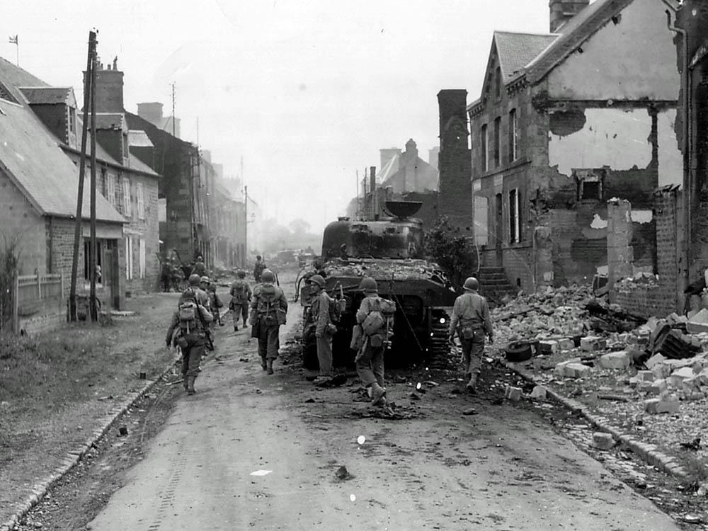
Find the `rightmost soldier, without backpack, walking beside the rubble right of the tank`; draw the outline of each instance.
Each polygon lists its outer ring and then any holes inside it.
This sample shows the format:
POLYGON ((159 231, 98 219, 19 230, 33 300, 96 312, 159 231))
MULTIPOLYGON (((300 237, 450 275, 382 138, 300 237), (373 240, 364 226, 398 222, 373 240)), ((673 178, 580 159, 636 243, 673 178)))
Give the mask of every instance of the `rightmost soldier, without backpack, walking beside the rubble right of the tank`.
POLYGON ((474 277, 464 281, 464 293, 455 299, 450 319, 449 340, 455 339, 455 333, 462 344, 465 377, 469 378, 467 389, 476 392, 477 377, 481 372, 481 358, 484 354, 484 336, 489 336, 489 343, 494 341, 489 304, 477 293, 479 282, 474 277))

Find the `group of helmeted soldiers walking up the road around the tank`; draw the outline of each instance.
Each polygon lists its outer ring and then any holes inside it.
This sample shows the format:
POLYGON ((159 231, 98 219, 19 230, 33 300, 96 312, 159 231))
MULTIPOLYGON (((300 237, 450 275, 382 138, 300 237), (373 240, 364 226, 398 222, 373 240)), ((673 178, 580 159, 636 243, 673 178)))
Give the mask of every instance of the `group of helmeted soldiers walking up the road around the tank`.
MULTIPOLYGON (((258 339, 261 367, 272 375, 273 362, 278 358, 280 348, 280 326, 286 323, 287 298, 280 285, 276 284, 275 274, 265 267, 258 270, 258 282, 253 289, 243 270, 239 270, 237 277, 229 289, 229 311, 232 312, 234 333, 239 331, 239 324, 242 329, 246 329, 247 324, 251 325, 251 337, 258 339)), ((334 376, 332 339, 338 330, 336 323, 346 301, 334 299, 326 292, 324 276, 319 273, 309 275, 306 282, 310 300, 304 319, 303 339, 307 342, 314 335, 319 362, 319 375, 314 382, 321 384, 334 376)), ((356 370, 372 405, 384 406, 384 355, 390 344, 396 308, 394 302, 379 297, 374 278, 363 278, 359 288, 364 297, 355 314, 350 348, 357 352, 356 370)), ((455 336, 459 338, 467 389, 474 393, 486 338, 493 341, 493 326, 489 305, 485 297, 479 295, 476 278, 467 278, 463 290, 452 309, 448 341, 454 343, 455 336)), ((224 326, 219 310, 221 307, 223 304, 210 279, 196 273, 190 275, 189 287, 180 297, 178 310, 172 316, 166 336, 167 346, 179 346, 182 350, 182 375, 188 394, 195 392, 194 382, 205 349, 210 344, 213 348, 212 329, 215 323, 224 326), (190 312, 189 307, 193 307, 194 311, 190 312)))

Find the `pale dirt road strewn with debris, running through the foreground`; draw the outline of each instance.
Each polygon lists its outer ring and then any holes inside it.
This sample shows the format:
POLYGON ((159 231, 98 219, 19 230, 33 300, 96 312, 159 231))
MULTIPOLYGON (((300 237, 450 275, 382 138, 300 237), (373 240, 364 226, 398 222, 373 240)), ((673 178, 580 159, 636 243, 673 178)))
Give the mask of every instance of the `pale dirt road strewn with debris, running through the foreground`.
MULTIPOLYGON (((298 316, 292 304, 290 326, 298 316)), ((86 527, 678 529, 527 409, 455 394, 455 382, 412 400, 400 383, 389 397, 411 418, 377 418, 353 378, 318 389, 279 364, 268 376, 255 340, 229 330, 198 394, 180 396, 86 527)))

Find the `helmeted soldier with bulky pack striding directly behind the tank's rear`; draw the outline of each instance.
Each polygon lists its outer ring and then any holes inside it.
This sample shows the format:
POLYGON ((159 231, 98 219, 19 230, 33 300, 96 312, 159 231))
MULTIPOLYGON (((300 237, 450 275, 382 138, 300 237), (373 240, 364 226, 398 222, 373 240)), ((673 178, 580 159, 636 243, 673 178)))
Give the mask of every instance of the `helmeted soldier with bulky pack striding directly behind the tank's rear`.
POLYGON ((357 324, 353 334, 361 341, 355 358, 356 371, 367 389, 371 404, 385 406, 384 353, 392 335, 396 305, 379 297, 379 287, 373 278, 364 278, 359 287, 364 292, 364 298, 356 312, 357 324))

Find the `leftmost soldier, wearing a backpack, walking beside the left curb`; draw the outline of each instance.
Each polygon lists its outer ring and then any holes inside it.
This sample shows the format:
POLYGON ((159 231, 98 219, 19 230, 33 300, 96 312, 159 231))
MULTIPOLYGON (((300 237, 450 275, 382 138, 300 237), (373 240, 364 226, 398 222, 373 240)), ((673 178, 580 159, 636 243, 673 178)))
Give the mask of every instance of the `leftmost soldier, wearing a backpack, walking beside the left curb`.
POLYGON ((199 276, 191 275, 189 280, 190 286, 182 293, 177 311, 172 315, 165 343, 168 348, 172 344, 181 348, 183 387, 188 394, 194 394, 194 381, 199 375, 212 314, 202 304, 205 299, 197 287, 199 276))

